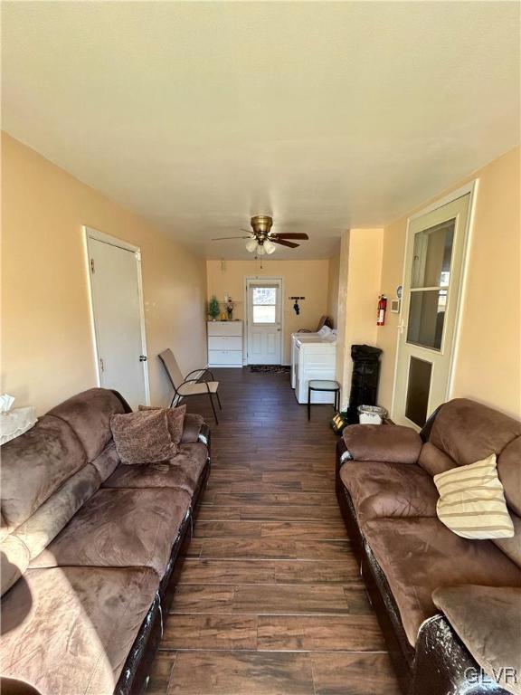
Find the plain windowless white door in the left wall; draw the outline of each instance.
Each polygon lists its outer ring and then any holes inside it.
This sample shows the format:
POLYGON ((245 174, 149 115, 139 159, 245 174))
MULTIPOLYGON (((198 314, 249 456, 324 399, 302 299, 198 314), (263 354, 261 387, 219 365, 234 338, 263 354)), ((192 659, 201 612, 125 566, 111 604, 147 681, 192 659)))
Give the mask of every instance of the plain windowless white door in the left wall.
POLYGON ((137 409, 149 402, 139 252, 91 236, 88 248, 99 386, 137 409))

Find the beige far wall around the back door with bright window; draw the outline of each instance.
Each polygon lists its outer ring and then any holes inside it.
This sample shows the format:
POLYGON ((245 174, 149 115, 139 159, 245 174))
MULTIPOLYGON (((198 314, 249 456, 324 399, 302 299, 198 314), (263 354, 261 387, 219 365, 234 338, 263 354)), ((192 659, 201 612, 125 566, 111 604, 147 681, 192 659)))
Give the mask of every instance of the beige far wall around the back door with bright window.
POLYGON ((224 293, 237 302, 234 319, 244 318, 244 288, 246 277, 281 277, 284 280, 282 310, 284 337, 282 362, 289 364, 290 335, 298 328, 317 328, 318 319, 327 313, 328 261, 207 261, 208 297, 213 294, 223 301, 224 293), (293 296, 306 297, 299 301, 300 314, 293 310, 293 296))

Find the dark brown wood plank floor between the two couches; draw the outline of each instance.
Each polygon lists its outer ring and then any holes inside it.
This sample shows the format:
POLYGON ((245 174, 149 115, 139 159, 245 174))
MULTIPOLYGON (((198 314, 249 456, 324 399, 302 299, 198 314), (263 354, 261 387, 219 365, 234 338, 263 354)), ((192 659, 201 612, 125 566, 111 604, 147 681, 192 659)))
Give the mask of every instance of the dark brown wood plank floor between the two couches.
POLYGON ((336 502, 331 407, 308 423, 289 376, 215 373, 213 469, 147 695, 399 695, 336 502))

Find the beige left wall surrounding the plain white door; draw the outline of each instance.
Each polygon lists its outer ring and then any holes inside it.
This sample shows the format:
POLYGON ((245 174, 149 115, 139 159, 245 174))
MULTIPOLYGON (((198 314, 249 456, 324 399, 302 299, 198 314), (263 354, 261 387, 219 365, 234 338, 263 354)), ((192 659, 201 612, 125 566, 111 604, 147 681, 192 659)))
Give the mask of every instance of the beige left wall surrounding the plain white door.
POLYGON ((141 247, 151 398, 166 403, 158 352, 206 364, 204 261, 13 138, 2 146, 2 391, 43 413, 96 386, 87 224, 141 247))

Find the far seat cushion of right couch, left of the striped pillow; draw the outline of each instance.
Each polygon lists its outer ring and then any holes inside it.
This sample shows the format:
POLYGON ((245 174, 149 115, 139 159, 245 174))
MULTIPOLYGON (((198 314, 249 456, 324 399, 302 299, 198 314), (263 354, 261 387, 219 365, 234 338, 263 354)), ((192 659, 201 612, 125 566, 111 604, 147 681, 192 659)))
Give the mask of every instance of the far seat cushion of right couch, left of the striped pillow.
POLYGON ((438 490, 414 463, 349 461, 340 477, 362 523, 378 517, 436 516, 438 490))

